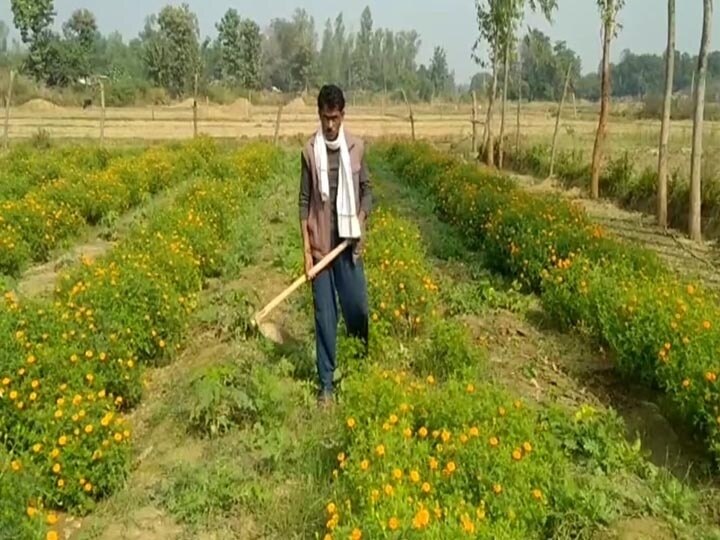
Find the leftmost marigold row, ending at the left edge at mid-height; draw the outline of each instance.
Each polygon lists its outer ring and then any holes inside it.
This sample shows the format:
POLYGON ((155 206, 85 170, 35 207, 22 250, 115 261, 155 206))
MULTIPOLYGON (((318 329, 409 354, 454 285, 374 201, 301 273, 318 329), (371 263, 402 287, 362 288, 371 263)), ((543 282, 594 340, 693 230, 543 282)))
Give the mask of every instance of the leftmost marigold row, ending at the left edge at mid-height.
POLYGON ((17 276, 29 262, 46 260, 86 224, 125 212, 202 171, 206 146, 200 140, 150 148, 85 175, 64 174, 19 199, 0 202, 0 274, 17 276))

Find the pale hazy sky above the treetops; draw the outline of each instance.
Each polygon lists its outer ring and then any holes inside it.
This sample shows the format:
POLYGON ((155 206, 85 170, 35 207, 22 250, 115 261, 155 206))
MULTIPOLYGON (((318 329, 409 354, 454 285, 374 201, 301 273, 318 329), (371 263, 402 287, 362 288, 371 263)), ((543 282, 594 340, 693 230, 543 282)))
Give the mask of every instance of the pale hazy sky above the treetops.
MULTIPOLYGON (((376 27, 393 30, 416 29, 422 40, 418 61, 428 62, 433 48, 440 45, 447 51, 450 68, 458 83, 468 82, 478 71, 470 52, 477 35, 474 0, 185 0, 197 13, 203 35, 215 35, 215 23, 230 7, 243 17, 254 19, 265 28, 271 19, 290 17, 297 7, 305 8, 315 18, 316 30, 322 35, 325 20, 345 15, 345 23, 352 30, 359 27, 360 13, 370 6, 376 27)), ((78 8, 95 13, 103 33, 120 31, 127 38, 140 32, 145 16, 158 12, 166 4, 180 4, 181 0, 55 0, 57 26, 78 8)), ((599 64, 601 53, 600 22, 596 0, 558 0, 560 9, 550 25, 536 14, 528 14, 525 25, 539 28, 555 40, 566 41, 581 57, 583 71, 591 71, 599 64)), ((0 1, 0 19, 12 25, 10 0, 0 1)), ((667 35, 667 2, 665 0, 627 0, 620 15, 622 29, 613 44, 613 60, 624 49, 634 52, 660 53, 667 35)), ((712 21, 716 36, 720 33, 720 10, 712 21)), ((677 47, 680 51, 697 54, 702 29, 702 2, 677 2, 677 47)), ((712 48, 720 43, 712 40, 712 48)))

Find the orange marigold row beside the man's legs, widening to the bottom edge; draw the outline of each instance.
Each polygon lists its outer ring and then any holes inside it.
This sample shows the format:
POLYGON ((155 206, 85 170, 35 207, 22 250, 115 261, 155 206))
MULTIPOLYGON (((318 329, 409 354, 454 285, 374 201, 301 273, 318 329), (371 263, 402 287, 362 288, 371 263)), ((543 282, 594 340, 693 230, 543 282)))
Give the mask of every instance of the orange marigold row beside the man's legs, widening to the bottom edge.
POLYGON ((442 316, 425 257, 412 224, 373 216, 374 362, 343 384, 321 537, 580 537, 631 514, 613 475, 643 462, 617 418, 487 382, 464 328, 442 316))

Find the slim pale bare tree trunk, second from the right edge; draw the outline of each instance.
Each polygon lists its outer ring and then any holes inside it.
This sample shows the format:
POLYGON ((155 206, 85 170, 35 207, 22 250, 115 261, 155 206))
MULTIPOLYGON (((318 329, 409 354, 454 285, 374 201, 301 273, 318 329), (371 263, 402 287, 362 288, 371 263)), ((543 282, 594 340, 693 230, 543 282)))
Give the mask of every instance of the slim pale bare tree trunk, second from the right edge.
POLYGON ((660 150, 658 158, 657 220, 658 225, 667 229, 667 161, 670 138, 670 112, 675 73, 675 0, 668 0, 668 43, 665 51, 665 101, 663 103, 662 125, 660 127, 660 150))

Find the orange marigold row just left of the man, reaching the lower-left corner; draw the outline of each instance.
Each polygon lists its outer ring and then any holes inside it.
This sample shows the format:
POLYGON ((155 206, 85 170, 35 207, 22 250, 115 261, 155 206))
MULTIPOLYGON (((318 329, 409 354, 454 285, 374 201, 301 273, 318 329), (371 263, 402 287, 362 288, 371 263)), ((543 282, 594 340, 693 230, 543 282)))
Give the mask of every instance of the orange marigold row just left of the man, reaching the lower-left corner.
POLYGON ((212 179, 62 276, 52 302, 6 294, 0 493, 23 474, 33 496, 18 503, 20 515, 0 512, 3 531, 42 529, 53 514, 41 507, 86 511, 124 481, 131 430, 122 412, 141 397, 142 368, 179 347, 204 280, 220 271, 237 216, 276 157, 265 145, 233 155, 202 147, 212 179))

